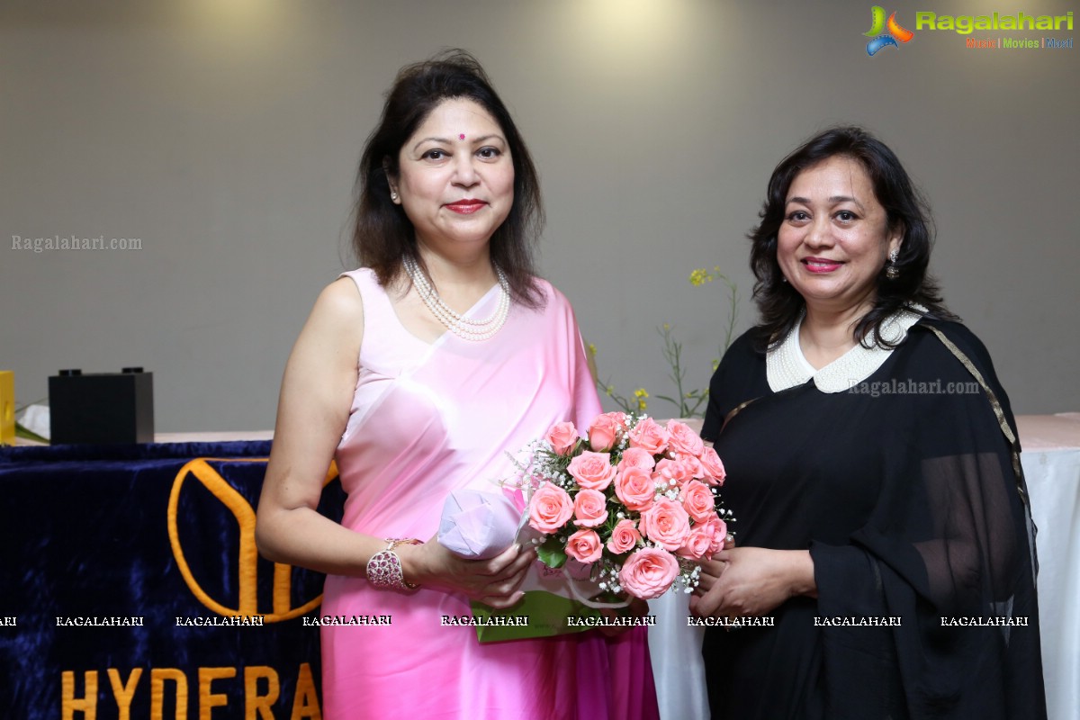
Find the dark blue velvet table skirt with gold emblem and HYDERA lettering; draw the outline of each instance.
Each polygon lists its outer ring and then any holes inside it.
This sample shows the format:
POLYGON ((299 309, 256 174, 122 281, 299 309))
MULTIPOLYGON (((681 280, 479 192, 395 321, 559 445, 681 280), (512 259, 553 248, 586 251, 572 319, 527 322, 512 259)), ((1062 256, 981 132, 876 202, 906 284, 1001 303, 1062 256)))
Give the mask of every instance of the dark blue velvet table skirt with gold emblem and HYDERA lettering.
POLYGON ((0 718, 321 717, 323 578, 255 551, 269 451, 0 449, 0 718))

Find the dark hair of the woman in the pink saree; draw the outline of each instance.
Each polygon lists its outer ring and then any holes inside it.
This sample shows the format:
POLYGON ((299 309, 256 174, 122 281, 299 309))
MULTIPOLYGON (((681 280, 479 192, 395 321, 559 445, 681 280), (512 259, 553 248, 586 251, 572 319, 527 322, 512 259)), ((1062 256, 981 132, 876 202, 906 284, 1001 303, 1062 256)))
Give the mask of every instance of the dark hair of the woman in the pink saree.
POLYGON ((360 160, 353 252, 361 264, 375 271, 383 287, 403 272, 402 261, 406 257, 428 272, 417 250, 413 223, 405 210, 390 200, 388 174, 396 177, 399 152, 406 140, 432 110, 453 98, 468 98, 487 110, 510 146, 514 202, 505 221, 491 235, 491 260, 507 275, 515 301, 529 308, 539 307, 543 298, 535 283, 532 255, 544 223, 540 180, 510 111, 481 64, 463 50, 444 51, 397 72, 379 124, 367 138, 360 160))

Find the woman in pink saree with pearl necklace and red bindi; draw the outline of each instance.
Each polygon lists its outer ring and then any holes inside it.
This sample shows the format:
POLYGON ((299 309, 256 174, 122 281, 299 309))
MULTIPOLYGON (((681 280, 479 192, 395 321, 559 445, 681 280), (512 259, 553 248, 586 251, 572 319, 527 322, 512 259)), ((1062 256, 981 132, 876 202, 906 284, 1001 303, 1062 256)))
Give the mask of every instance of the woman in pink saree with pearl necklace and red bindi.
POLYGON ((658 717, 645 628, 480 643, 445 624, 513 607, 536 559, 450 554, 446 497, 497 491, 508 451, 600 411, 572 310, 532 270, 536 171, 472 57, 399 73, 357 185, 364 267, 289 357, 256 530, 266 557, 327 573, 322 615, 389 617, 322 627, 324 717, 658 717), (340 525, 315 510, 332 459, 340 525))

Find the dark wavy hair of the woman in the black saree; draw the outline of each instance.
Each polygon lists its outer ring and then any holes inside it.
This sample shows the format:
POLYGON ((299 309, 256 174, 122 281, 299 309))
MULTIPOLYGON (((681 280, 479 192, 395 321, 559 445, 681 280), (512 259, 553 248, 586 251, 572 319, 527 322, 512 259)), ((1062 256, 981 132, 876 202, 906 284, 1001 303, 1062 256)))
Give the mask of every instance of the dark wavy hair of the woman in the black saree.
POLYGON ((900 160, 885 142, 862 127, 841 126, 826 130, 784 158, 769 178, 769 191, 759 217, 761 222, 747 235, 752 243, 751 269, 754 300, 760 312, 757 342, 761 349, 782 341, 795 327, 806 301, 784 275, 777 261, 777 235, 784 222, 787 191, 796 176, 818 163, 843 155, 856 160, 870 178, 874 194, 885 207, 889 230, 903 232, 896 270, 900 275, 889 280, 885 267, 875 280, 877 299, 874 307, 856 324, 854 337, 869 347, 874 342, 890 348, 894 343, 880 337, 881 324, 908 303, 919 303, 939 320, 958 321, 941 298, 937 285, 927 273, 933 246, 933 222, 930 208, 912 184, 900 160))

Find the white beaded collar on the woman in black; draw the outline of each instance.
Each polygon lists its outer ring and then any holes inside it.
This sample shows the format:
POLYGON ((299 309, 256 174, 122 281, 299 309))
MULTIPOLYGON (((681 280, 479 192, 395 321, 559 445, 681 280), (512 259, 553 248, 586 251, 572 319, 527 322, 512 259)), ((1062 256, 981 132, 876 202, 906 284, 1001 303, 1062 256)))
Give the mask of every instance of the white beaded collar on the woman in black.
MULTIPOLYGON (((927 309, 921 305, 915 304, 912 308, 912 310, 904 309, 890 315, 881 324, 881 337, 891 343, 899 343, 907 337, 907 330, 919 322, 922 313, 927 312, 927 309)), ((802 349, 799 347, 799 327, 801 326, 802 317, 799 317, 783 342, 766 355, 766 375, 769 388, 774 393, 801 385, 811 378, 813 378, 813 384, 823 393, 842 393, 874 375, 892 354, 892 350, 880 348, 877 343, 869 348, 864 348, 860 343, 825 367, 815 370, 807 362, 802 349)))

